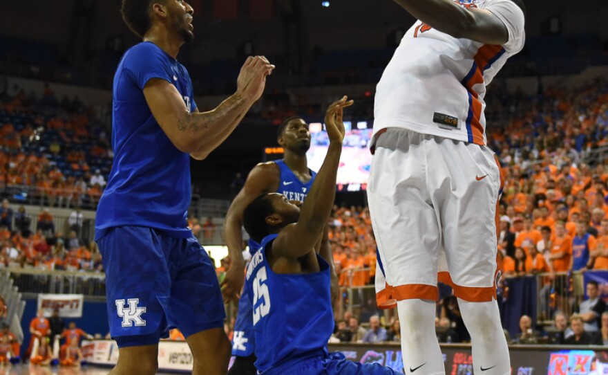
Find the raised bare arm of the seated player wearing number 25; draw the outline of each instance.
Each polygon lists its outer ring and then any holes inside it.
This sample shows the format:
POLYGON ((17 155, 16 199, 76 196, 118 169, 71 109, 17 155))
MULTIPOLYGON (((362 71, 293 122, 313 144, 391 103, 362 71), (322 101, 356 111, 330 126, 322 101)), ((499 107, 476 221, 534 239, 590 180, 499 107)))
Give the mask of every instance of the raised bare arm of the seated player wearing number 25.
POLYGON ((336 175, 345 134, 343 108, 350 105, 352 100, 347 101, 344 96, 327 109, 325 124, 330 138, 327 156, 302 205, 298 222, 283 228, 274 240, 272 252, 279 257, 299 258, 310 253, 323 233, 336 196, 336 175))

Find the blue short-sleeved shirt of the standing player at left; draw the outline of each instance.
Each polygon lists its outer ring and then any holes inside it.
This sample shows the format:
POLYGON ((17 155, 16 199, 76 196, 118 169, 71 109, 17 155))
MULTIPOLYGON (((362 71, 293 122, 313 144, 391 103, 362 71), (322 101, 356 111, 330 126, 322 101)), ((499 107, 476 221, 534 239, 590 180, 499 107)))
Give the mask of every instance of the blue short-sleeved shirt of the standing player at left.
POLYGON ((114 165, 97 208, 95 240, 127 225, 189 237, 190 156, 171 143, 152 116, 143 89, 153 78, 173 84, 188 111, 196 110, 190 75, 177 60, 151 42, 124 53, 114 76, 114 165))

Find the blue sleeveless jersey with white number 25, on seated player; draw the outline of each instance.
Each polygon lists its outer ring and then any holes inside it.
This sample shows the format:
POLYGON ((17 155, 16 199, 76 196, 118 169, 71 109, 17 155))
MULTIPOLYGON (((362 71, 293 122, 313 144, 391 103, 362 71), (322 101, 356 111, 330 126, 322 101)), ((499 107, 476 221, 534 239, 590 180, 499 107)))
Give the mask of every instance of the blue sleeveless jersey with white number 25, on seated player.
POLYGON ((274 273, 265 251, 276 236, 263 239, 245 275, 260 373, 294 358, 327 355, 334 329, 329 264, 317 255, 319 272, 274 273))

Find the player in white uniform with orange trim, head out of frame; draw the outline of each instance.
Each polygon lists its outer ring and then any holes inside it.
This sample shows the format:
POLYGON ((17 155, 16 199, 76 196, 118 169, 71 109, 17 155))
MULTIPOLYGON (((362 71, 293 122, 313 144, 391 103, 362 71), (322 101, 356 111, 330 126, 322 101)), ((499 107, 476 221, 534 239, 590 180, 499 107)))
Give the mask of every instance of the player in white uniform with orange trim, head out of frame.
POLYGON ((377 86, 368 198, 377 300, 397 304, 406 374, 444 374, 437 280, 453 286, 475 373, 510 374, 497 303, 500 165, 486 85, 524 46, 521 0, 395 0, 419 19, 377 86))

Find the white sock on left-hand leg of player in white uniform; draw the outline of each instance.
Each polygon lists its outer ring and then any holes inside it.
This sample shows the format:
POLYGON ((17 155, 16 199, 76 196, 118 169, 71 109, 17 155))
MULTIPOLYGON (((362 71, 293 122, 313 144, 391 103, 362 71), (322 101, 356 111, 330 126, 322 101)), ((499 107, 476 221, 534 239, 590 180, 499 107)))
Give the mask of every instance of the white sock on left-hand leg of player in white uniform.
MULTIPOLYGON (((397 302, 401 324, 401 354, 405 374, 443 375, 444 356, 435 333, 437 304, 428 300, 397 302)), ((484 374, 485 375, 485 374, 484 374)))

